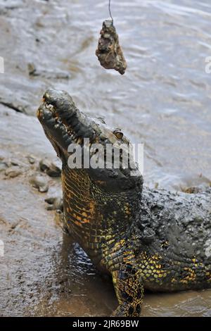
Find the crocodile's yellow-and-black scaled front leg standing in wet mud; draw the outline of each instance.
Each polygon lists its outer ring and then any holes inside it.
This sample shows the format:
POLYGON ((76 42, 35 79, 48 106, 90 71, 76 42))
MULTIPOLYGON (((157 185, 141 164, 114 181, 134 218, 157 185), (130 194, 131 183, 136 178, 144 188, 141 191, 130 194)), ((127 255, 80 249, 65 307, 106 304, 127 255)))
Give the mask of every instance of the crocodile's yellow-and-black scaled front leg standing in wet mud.
POLYGON ((140 271, 132 264, 122 264, 112 276, 119 301, 112 316, 139 317, 144 292, 140 271))

